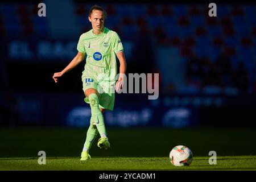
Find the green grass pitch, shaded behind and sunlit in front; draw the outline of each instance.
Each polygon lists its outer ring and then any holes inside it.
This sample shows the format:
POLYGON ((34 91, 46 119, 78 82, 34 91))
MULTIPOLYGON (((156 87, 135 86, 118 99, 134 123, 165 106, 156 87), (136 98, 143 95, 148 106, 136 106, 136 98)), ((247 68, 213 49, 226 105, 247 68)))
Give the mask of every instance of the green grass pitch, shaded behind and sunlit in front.
POLYGON ((109 128, 110 150, 97 142, 92 160, 80 162, 84 129, 0 129, 0 170, 256 170, 255 129, 109 128), (172 147, 191 148, 188 167, 172 166, 172 147), (38 152, 46 152, 46 164, 38 164, 38 152), (210 165, 209 151, 217 152, 210 165))

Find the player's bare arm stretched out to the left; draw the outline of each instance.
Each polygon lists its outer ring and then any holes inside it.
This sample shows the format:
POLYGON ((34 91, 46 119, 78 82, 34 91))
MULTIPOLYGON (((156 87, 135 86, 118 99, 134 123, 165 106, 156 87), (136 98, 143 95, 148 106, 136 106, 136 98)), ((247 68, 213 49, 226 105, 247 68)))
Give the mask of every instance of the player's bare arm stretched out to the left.
POLYGON ((77 65, 79 65, 79 63, 81 63, 82 60, 84 60, 84 56, 85 56, 85 53, 78 52, 77 55, 74 57, 74 59, 67 65, 67 67, 63 69, 63 71, 54 73, 52 77, 53 80, 55 82, 58 82, 58 78, 63 76, 68 71, 71 71, 71 69, 75 68, 77 65))

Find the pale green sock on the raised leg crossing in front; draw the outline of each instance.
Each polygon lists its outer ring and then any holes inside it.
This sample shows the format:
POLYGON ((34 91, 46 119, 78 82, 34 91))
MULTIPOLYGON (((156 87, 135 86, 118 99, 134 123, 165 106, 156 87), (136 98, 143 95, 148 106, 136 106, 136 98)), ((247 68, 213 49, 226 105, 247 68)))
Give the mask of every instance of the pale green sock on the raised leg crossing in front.
POLYGON ((100 106, 98 105, 98 96, 95 93, 90 94, 90 109, 92 112, 91 120, 96 123, 96 127, 98 129, 98 133, 100 133, 101 137, 106 137, 106 129, 104 123, 104 117, 101 113, 100 106))

